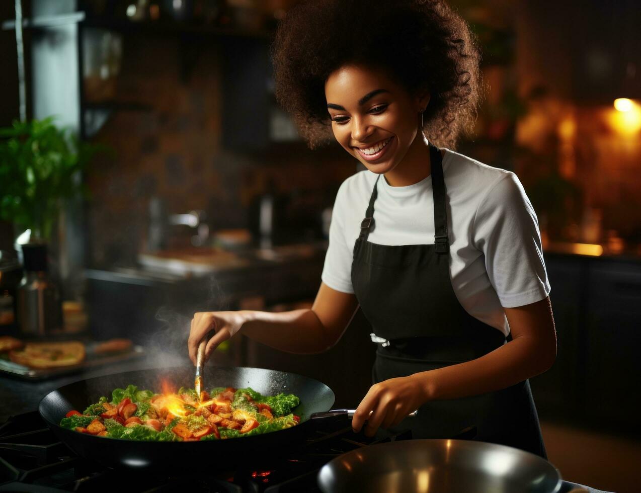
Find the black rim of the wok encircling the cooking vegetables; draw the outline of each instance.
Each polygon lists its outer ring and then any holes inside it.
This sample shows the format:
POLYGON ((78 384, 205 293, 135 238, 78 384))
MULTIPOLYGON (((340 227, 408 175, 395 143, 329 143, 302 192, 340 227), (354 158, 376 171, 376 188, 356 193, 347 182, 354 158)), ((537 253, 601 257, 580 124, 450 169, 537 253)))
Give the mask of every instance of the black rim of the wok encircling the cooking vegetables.
MULTIPOLYGON (((163 370, 163 372, 169 372, 169 371, 172 371, 172 369, 182 369, 182 370, 184 370, 185 368, 186 367, 184 367, 184 366, 176 366, 176 367, 163 368, 162 370, 163 370)), ((331 405, 329 405, 329 409, 331 409, 331 407, 334 405, 334 403, 336 401, 336 394, 334 394, 334 391, 331 390, 329 385, 326 385, 326 383, 323 383, 322 381, 315 380, 313 378, 310 378, 308 376, 304 376, 304 375, 301 375, 301 374, 298 374, 298 373, 285 372, 285 371, 280 371, 280 370, 272 370, 272 369, 269 369, 269 368, 246 367, 246 366, 229 367, 229 366, 213 366, 212 365, 212 366, 207 366, 206 368, 207 369, 221 368, 221 369, 233 369, 233 370, 260 370, 260 371, 266 371, 266 372, 272 372, 272 373, 277 372, 277 373, 281 373, 281 374, 287 374, 288 376, 295 376, 295 377, 298 377, 298 378, 303 378, 304 380, 308 380, 310 382, 322 385, 322 387, 325 387, 325 389, 329 391, 329 393, 331 394, 331 399, 332 399, 332 403, 331 403, 331 405)), ((78 431, 69 430, 69 428, 63 428, 62 426, 60 426, 59 423, 51 421, 46 416, 46 414, 43 412, 43 409, 46 408, 47 405, 48 405, 48 403, 45 402, 46 399, 51 398, 52 394, 54 394, 55 392, 60 392, 60 390, 65 389, 66 387, 70 387, 71 385, 77 385, 78 383, 82 383, 82 382, 100 380, 100 379, 103 379, 103 378, 108 378, 110 376, 117 376, 117 375, 122 375, 122 374, 126 374, 126 373, 135 373, 135 372, 147 371, 147 370, 154 370, 154 368, 108 373, 108 374, 104 374, 104 375, 100 375, 100 376, 96 376, 96 377, 92 377, 92 378, 85 378, 83 380, 76 380, 76 381, 72 381, 70 383, 67 383, 67 385, 63 385, 62 387, 58 387, 57 389, 53 389, 53 390, 47 392, 47 394, 45 394, 42 397, 42 399, 40 399, 40 401, 38 402, 38 414, 40 414, 40 417, 42 419, 44 419, 44 421, 47 423, 47 426, 49 426, 49 428, 52 431, 54 431, 56 433, 63 433, 64 435, 69 434, 70 439, 72 438, 72 439, 85 440, 85 439, 88 439, 88 437, 92 437, 93 439, 108 438, 110 440, 113 440, 114 442, 121 442, 121 443, 128 443, 128 444, 172 444, 171 445, 172 447, 175 447, 176 444, 187 444, 187 443, 189 443, 189 444, 192 444, 191 446, 193 446, 194 444, 197 444, 197 443, 199 443, 199 444, 203 444, 203 443, 204 444, 206 444, 206 443, 219 443, 219 442, 228 442, 228 440, 238 440, 238 439, 244 440, 243 443, 246 442, 245 440, 249 440, 248 443, 251 443, 252 439, 260 439, 260 437, 264 437, 265 435, 271 435, 272 433, 276 433, 276 432, 290 431, 290 433, 292 433, 292 430, 293 430, 293 433, 300 433, 301 430, 302 430, 301 426, 304 426, 304 425, 308 424, 311 421, 310 417, 306 416, 306 419, 304 421, 301 420, 301 422, 299 422, 299 424, 297 424, 296 426, 291 426, 290 428, 285 428, 284 430, 275 430, 275 431, 270 431, 269 433, 261 433, 260 435, 251 435, 249 437, 236 437, 235 439, 204 440, 204 442, 202 442, 201 440, 198 440, 197 442, 184 442, 183 440, 177 441, 177 442, 160 442, 160 441, 155 441, 155 440, 115 439, 115 438, 111 438, 111 437, 98 437, 97 435, 91 435, 89 433, 78 433, 78 431)), ((296 394, 294 394, 294 395, 296 395, 296 394)), ((88 405, 90 405, 90 404, 92 404, 92 403, 89 403, 88 405)), ((300 406, 300 404, 299 404, 299 406, 300 406)), ((296 408, 292 409, 292 414, 296 414, 294 411, 299 406, 296 406, 296 408)), ((307 428, 307 426, 305 426, 305 428, 307 428)))

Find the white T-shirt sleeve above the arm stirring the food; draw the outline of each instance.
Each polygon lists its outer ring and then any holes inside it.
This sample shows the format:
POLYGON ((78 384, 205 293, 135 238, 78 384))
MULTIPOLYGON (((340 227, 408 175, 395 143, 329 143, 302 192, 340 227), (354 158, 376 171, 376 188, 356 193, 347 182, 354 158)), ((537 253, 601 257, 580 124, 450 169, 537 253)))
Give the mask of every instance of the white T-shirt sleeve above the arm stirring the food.
POLYGON ((329 246, 325 255, 321 280, 330 288, 353 294, 352 287, 352 249, 345 235, 345 183, 337 193, 329 224, 329 246))

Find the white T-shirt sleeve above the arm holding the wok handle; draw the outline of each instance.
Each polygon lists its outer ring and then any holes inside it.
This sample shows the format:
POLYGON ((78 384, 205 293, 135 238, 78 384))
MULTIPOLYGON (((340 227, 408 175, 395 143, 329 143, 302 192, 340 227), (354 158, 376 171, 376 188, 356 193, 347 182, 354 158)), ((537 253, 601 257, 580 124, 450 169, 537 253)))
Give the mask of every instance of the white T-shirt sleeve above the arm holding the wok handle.
POLYGON ((514 173, 494 183, 479 203, 472 235, 504 308, 547 297, 550 285, 537 215, 514 173))

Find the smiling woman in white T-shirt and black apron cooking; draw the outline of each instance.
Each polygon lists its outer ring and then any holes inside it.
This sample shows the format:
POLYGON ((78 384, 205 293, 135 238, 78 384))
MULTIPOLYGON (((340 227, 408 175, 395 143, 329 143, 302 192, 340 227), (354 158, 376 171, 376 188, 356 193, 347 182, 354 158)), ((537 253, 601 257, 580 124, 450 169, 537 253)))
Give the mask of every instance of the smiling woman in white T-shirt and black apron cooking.
POLYGON ((478 440, 545 457, 528 378, 551 367, 556 334, 537 217, 512 172, 449 150, 474 117, 478 61, 442 1, 313 1, 287 14, 280 103, 310 146, 333 135, 367 170, 338 191, 312 308, 196 313, 192 360, 210 331, 206 355, 238 332, 324 351, 360 305, 381 344, 354 431, 476 426, 478 440))

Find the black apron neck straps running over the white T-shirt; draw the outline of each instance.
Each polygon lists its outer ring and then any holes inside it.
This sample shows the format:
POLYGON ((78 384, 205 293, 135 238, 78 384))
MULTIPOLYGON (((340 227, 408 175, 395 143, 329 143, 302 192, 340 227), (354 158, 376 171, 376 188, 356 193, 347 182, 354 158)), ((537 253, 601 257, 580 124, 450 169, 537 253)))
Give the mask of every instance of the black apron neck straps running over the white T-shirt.
MULTIPOLYGON (((434 200, 434 243, 437 253, 449 253, 449 240, 447 239, 447 212, 445 211, 445 180, 443 178, 443 159, 436 146, 429 144, 429 165, 432 176, 432 196, 434 200)), ((359 240, 367 241, 369 233, 374 227, 374 202, 378 196, 378 175, 374 183, 372 196, 365 212, 365 219, 361 222, 359 240)))

